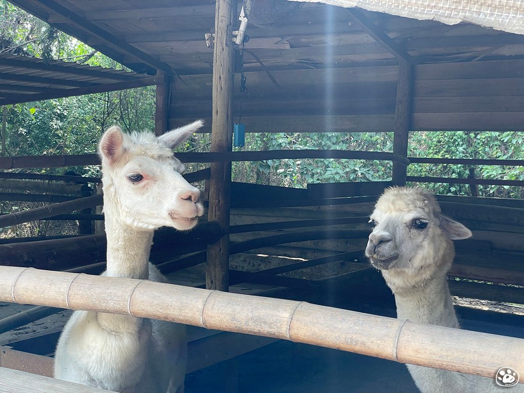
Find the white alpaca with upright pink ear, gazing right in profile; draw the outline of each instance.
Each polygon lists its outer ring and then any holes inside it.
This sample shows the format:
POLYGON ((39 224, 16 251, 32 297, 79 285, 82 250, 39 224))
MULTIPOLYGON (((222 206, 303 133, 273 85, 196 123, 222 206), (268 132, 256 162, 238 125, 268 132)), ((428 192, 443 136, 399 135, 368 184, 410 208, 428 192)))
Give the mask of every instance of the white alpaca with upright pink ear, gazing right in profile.
MULTIPOLYGON (((172 148, 202 121, 160 137, 108 129, 100 141, 107 270, 111 277, 166 282, 149 263, 154 230, 190 230, 203 214, 200 191, 182 177, 172 148)), ((173 299, 176 302, 176 299, 173 299)), ((75 311, 58 342, 54 376, 125 393, 182 392, 187 341, 183 325, 75 311)))

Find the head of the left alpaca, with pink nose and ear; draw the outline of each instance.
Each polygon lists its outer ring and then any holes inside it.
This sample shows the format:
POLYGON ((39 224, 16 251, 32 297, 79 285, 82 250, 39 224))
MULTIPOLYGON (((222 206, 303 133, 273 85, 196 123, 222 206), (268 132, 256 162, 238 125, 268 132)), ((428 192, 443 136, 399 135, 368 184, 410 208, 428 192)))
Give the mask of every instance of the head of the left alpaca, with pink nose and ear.
POLYGON ((203 214, 200 191, 182 177, 185 167, 172 148, 202 125, 199 120, 159 137, 109 128, 99 146, 106 216, 148 230, 193 228, 203 214))

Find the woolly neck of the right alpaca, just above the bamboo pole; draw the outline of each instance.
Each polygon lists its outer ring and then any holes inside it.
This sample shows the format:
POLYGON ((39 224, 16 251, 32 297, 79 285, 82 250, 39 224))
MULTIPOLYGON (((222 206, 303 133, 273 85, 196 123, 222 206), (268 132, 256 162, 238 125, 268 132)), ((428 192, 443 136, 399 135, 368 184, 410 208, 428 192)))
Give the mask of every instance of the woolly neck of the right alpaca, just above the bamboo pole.
POLYGON ((399 319, 460 328, 445 274, 432 278, 421 287, 397 291, 395 302, 399 319))

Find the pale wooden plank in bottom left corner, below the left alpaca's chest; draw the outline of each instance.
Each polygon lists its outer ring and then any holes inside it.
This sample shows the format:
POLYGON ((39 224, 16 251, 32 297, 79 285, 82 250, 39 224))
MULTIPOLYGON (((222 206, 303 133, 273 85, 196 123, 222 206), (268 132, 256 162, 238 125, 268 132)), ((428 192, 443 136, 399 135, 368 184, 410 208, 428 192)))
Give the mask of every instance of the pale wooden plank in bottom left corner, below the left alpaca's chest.
POLYGON ((0 367, 0 386, 5 393, 102 393, 113 391, 4 367, 0 367))

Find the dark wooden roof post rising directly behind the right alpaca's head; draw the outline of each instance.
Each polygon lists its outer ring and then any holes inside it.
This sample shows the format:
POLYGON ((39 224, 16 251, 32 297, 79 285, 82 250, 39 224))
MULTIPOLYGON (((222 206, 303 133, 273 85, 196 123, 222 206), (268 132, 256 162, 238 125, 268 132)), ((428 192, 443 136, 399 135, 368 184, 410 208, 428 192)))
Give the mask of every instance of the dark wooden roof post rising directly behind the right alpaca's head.
MULTIPOLYGON (((395 107, 395 126, 393 129, 393 154, 408 156, 408 138, 411 119, 412 65, 399 60, 397 82, 397 104, 395 107)), ((393 162, 392 181, 396 185, 406 184, 407 166, 393 162)))

